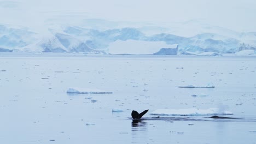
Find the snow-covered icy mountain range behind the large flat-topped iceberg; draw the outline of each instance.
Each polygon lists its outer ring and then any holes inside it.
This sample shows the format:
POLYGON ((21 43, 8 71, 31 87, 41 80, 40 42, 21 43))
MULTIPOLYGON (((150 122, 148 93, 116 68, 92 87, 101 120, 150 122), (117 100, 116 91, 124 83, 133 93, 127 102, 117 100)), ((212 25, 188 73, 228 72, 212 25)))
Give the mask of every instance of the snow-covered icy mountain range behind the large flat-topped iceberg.
POLYGON ((157 29, 156 33, 145 34, 148 28, 150 27, 102 30, 60 26, 56 31, 49 28, 49 34, 42 35, 27 28, 0 25, 0 51, 108 53, 109 46, 117 40, 164 41, 167 45, 178 44, 179 53, 236 53, 256 50, 256 32, 239 33, 224 28, 215 28, 217 30, 213 31, 214 28, 208 28, 210 32, 182 37, 167 31, 166 27, 162 31, 159 31, 160 27, 155 27, 153 30, 157 29))

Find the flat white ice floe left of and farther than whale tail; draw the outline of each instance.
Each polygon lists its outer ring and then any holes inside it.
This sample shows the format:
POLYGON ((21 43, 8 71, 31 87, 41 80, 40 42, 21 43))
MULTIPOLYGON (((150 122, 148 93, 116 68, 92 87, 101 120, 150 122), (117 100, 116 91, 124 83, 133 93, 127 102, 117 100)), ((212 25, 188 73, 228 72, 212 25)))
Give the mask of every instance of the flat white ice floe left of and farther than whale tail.
POLYGON ((100 89, 96 89, 96 88, 68 88, 67 93, 104 94, 104 93, 112 93, 112 92, 101 91, 100 89))

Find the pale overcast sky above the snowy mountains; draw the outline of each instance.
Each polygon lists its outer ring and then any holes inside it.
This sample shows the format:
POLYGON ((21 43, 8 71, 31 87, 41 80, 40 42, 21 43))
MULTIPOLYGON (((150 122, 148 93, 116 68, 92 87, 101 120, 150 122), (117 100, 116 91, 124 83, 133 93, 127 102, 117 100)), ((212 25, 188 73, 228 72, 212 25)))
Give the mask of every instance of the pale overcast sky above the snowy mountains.
POLYGON ((0 0, 0 23, 40 27, 47 19, 183 22, 256 32, 254 0, 0 0))

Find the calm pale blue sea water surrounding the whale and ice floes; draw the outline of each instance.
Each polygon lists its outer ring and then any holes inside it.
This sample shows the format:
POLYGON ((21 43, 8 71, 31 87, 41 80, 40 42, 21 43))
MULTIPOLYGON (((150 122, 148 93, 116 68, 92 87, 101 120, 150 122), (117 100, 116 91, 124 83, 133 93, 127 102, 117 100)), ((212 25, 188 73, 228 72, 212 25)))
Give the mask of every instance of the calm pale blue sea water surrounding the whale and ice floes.
POLYGON ((256 143, 256 57, 1 53, 0 90, 0 143, 256 143), (241 119, 150 119, 211 107, 241 119))

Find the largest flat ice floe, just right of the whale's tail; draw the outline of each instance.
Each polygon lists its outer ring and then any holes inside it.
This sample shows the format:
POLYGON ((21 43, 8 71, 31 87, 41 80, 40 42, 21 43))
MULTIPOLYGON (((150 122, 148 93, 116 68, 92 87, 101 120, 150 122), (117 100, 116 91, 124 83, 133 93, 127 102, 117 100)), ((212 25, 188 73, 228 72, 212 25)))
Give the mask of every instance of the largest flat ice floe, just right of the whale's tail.
POLYGON ((158 109, 150 115, 162 116, 207 116, 207 115, 233 115, 230 111, 221 110, 217 107, 210 109, 158 109))

